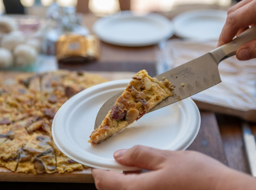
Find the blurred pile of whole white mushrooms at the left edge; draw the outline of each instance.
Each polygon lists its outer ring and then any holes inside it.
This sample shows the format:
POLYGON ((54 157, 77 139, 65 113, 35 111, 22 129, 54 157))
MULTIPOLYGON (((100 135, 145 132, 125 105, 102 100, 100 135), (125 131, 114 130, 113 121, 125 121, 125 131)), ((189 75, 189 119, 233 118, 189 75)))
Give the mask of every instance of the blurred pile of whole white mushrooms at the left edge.
POLYGON ((0 16, 0 70, 33 71, 42 46, 36 32, 40 23, 32 18, 17 18, 0 16))

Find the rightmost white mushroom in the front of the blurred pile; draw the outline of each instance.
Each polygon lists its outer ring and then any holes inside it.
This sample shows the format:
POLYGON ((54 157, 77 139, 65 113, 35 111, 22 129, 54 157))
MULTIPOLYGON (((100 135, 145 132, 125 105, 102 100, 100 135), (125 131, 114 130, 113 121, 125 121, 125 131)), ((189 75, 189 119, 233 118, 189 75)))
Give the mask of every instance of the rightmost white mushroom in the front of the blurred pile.
POLYGON ((27 66, 35 62, 37 51, 28 44, 20 44, 13 50, 13 55, 17 66, 27 66))

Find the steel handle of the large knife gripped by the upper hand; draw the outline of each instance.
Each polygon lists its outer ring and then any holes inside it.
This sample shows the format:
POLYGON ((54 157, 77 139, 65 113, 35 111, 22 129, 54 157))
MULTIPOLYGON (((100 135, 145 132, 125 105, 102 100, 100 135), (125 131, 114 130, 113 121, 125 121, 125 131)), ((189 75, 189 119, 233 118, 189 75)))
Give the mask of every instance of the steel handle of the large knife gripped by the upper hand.
POLYGON ((236 55, 237 49, 243 46, 243 44, 254 39, 256 39, 256 25, 247 29, 232 41, 221 46, 221 49, 223 49, 227 57, 230 57, 232 55, 236 55))

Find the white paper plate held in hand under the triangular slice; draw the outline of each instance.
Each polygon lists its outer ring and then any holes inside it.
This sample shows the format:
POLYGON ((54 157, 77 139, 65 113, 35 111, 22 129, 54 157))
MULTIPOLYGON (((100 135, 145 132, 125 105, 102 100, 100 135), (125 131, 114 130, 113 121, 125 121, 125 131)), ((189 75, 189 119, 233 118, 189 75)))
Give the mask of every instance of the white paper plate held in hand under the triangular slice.
POLYGON ((185 150, 193 142, 200 128, 200 113, 193 100, 187 98, 147 113, 96 146, 87 143, 100 107, 124 90, 129 82, 130 79, 126 79, 98 84, 61 106, 52 123, 52 136, 65 155, 94 168, 129 171, 137 168, 118 164, 113 158, 115 151, 138 144, 163 150, 185 150))

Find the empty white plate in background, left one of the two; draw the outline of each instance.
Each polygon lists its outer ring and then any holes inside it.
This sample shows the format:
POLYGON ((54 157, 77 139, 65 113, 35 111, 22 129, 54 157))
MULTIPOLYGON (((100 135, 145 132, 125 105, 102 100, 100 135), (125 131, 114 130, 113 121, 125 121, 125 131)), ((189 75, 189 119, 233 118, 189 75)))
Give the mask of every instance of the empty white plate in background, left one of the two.
POLYGON ((164 16, 155 13, 138 16, 131 11, 98 19, 93 31, 102 41, 119 46, 158 44, 174 34, 173 24, 164 16))

